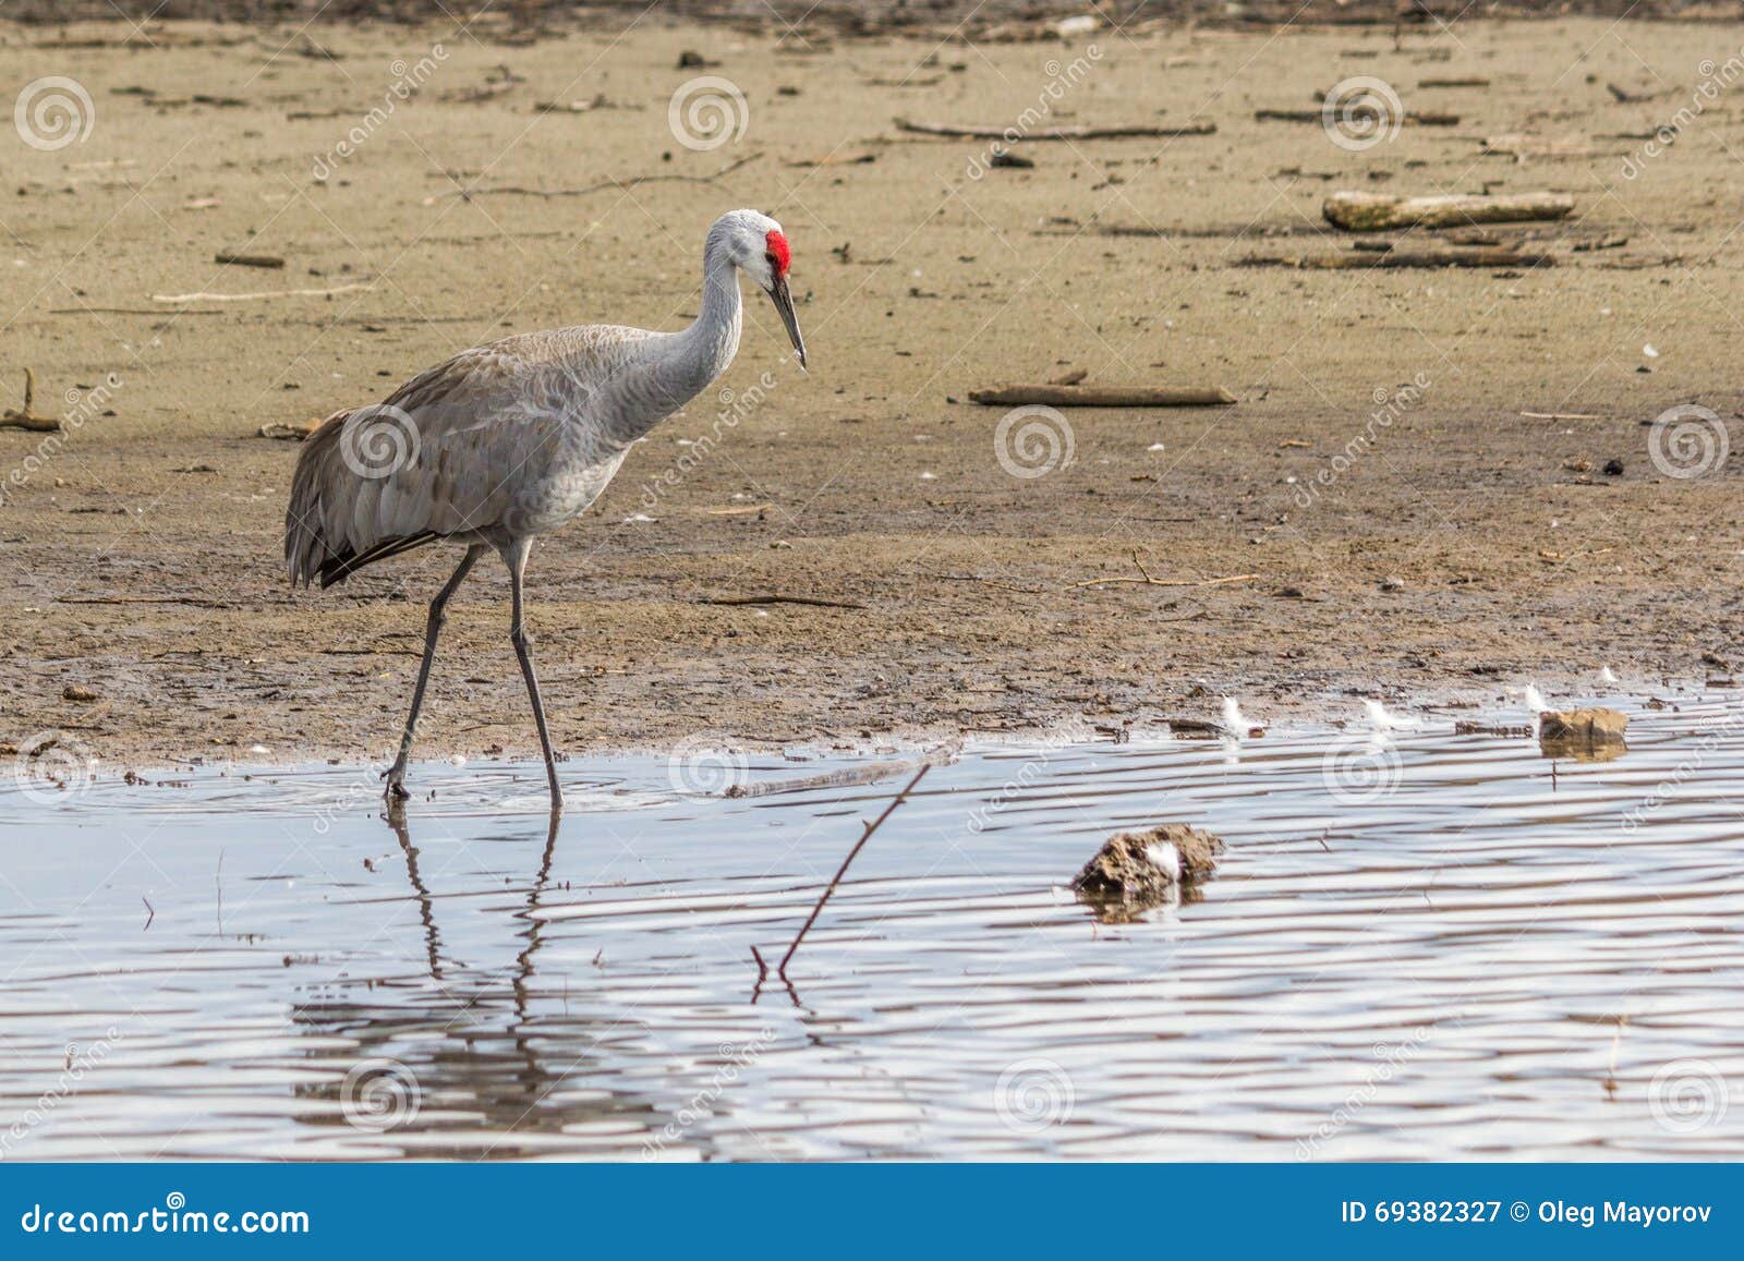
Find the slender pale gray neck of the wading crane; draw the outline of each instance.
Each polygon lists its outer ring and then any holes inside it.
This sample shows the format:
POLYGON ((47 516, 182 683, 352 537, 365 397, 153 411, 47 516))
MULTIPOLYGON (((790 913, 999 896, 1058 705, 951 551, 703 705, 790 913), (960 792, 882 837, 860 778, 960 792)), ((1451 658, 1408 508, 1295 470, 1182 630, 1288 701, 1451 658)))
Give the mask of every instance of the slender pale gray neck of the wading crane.
POLYGON ((710 234, 703 248, 703 309, 684 331, 649 338, 638 356, 640 371, 621 385, 624 406, 612 438, 619 443, 642 438, 708 389, 739 352, 741 324, 738 269, 726 239, 710 234))

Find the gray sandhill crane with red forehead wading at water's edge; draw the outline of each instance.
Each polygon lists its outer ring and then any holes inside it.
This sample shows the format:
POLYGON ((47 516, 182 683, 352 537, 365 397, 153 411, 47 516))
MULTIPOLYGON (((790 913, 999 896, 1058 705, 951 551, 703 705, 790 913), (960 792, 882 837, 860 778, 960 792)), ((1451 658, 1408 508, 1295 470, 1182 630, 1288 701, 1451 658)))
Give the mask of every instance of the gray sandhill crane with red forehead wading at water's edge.
POLYGON ((781 225, 752 209, 731 211, 708 228, 703 305, 684 331, 582 324, 506 337, 419 373, 385 403, 338 412, 310 434, 284 516, 293 584, 333 586, 427 542, 466 548, 431 600, 399 757, 384 773, 387 797, 406 795, 443 609, 495 548, 509 569, 509 640, 532 698, 551 804, 563 804, 521 614, 532 542, 598 499, 630 445, 732 363, 743 319, 738 272, 771 297, 806 366, 787 270, 781 225))

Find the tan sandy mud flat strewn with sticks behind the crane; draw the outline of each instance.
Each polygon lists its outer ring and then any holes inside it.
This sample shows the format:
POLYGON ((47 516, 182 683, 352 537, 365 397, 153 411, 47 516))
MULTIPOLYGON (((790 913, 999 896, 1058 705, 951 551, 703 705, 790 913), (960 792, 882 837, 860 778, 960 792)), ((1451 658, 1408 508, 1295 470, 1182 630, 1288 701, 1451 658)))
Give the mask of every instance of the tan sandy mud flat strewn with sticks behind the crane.
MULTIPOLYGON (((5 82, 70 78, 89 122, 0 138, 0 406, 31 368, 66 427, 0 429, 0 741, 140 766, 387 753, 453 555, 290 591, 296 445, 262 426, 508 331, 677 328, 703 228, 741 204, 794 241, 811 373, 753 303, 719 387, 537 549, 569 748, 1153 727, 1224 692, 1338 717, 1594 691, 1603 666, 1730 678, 1739 44, 1601 19, 1034 44, 0 26, 5 82), (671 122, 699 77, 738 92, 713 148, 671 122), (1352 78, 1402 126, 1336 143, 1256 117, 1352 78), (1025 141, 1032 167, 987 169, 987 141, 896 124, 1038 106, 1216 131, 1025 141), (1373 253, 1322 220, 1336 190, 1575 211, 1381 237, 1517 265, 1289 265, 1373 253), (1071 410, 1027 438, 968 401, 1078 371, 1238 401, 1071 410), (1678 405, 1707 412, 1655 429, 1678 405)), ((532 745, 492 563, 450 610, 420 753, 532 745)))

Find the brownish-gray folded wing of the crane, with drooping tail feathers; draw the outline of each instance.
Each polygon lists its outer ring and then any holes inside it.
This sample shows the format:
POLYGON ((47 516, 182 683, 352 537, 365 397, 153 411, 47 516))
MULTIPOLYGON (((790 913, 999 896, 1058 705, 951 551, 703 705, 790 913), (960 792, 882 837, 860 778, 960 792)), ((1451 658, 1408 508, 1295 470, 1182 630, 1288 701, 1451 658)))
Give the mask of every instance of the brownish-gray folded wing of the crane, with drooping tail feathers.
POLYGON ((513 530, 541 487, 610 460, 591 450, 588 405, 631 331, 506 338, 419 373, 384 403, 328 417, 291 481, 291 581, 330 586, 433 539, 513 530))

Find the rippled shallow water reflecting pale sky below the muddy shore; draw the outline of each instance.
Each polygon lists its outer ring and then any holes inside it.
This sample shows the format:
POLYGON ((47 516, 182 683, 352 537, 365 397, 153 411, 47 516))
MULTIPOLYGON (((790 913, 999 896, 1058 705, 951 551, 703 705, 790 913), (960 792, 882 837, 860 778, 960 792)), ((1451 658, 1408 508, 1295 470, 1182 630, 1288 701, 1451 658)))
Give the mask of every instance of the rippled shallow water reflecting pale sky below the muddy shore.
POLYGON ((420 767, 403 832, 356 769, 9 778, 0 1155, 1739 1155, 1744 705, 1624 708, 1611 762, 1449 715, 966 755, 755 1003, 902 776, 572 760, 555 832, 525 766, 420 767), (1165 820, 1230 844, 1202 898, 1064 890, 1165 820))

